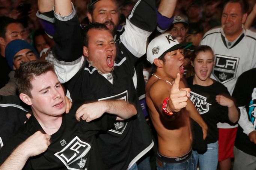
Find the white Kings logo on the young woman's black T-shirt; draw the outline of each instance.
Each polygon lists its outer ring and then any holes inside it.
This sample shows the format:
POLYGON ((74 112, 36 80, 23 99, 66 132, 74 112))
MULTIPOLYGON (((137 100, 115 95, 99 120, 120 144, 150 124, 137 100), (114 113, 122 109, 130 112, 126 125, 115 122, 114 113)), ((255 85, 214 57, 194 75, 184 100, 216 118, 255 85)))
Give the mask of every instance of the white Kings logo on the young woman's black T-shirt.
POLYGON ((209 105, 212 105, 206 101, 206 97, 192 91, 190 92, 189 98, 196 106, 196 109, 200 115, 207 113, 209 111, 209 105))

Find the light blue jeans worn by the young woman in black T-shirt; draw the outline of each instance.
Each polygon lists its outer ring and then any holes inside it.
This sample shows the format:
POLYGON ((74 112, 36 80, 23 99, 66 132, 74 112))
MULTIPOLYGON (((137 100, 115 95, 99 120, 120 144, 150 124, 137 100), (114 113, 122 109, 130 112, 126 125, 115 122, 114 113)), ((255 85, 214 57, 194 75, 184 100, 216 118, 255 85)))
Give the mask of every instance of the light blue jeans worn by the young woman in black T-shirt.
POLYGON ((202 170, 216 170, 218 166, 218 141, 207 144, 207 151, 204 154, 198 154, 192 151, 197 166, 199 160, 199 168, 202 170))

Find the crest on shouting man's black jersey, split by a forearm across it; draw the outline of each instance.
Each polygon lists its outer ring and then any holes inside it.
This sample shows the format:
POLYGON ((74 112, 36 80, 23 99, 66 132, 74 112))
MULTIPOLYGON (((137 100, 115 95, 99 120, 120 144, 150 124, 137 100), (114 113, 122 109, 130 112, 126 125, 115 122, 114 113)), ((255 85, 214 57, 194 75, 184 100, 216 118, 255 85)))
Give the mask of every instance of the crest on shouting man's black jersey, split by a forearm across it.
MULTIPOLYGON (((128 102, 128 91, 126 90, 120 94, 99 99, 99 101, 102 101, 102 100, 124 100, 124 101, 128 102)), ((109 131, 111 131, 113 133, 117 133, 117 134, 122 134, 123 131, 125 131, 127 124, 128 124, 128 122, 126 122, 126 121, 115 121, 114 128, 109 131)))

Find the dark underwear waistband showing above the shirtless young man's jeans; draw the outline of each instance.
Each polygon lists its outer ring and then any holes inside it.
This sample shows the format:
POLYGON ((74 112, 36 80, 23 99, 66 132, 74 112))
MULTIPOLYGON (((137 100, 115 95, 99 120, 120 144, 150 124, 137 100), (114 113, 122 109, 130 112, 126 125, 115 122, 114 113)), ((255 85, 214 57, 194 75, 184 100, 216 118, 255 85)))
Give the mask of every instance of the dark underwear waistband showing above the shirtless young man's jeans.
POLYGON ((175 164, 175 163, 182 163, 187 161, 192 155, 192 149, 187 154, 184 154, 180 157, 166 157, 159 152, 157 152, 157 159, 160 160, 161 162, 164 163, 169 163, 169 164, 175 164))

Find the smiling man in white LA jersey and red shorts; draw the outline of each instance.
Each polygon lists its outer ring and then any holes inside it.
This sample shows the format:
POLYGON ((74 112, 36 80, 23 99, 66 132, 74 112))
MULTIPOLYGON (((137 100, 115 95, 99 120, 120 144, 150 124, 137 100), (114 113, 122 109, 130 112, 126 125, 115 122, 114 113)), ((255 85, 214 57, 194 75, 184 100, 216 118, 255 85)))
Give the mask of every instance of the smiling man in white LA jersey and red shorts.
MULTIPOLYGON (((248 4, 244 0, 229 0, 224 4, 221 28, 208 31, 201 45, 215 52, 216 65, 211 78, 224 84, 232 94, 236 80, 243 72, 256 67, 256 33, 246 30, 248 4)), ((220 169, 230 169, 237 125, 218 124, 220 169)))

